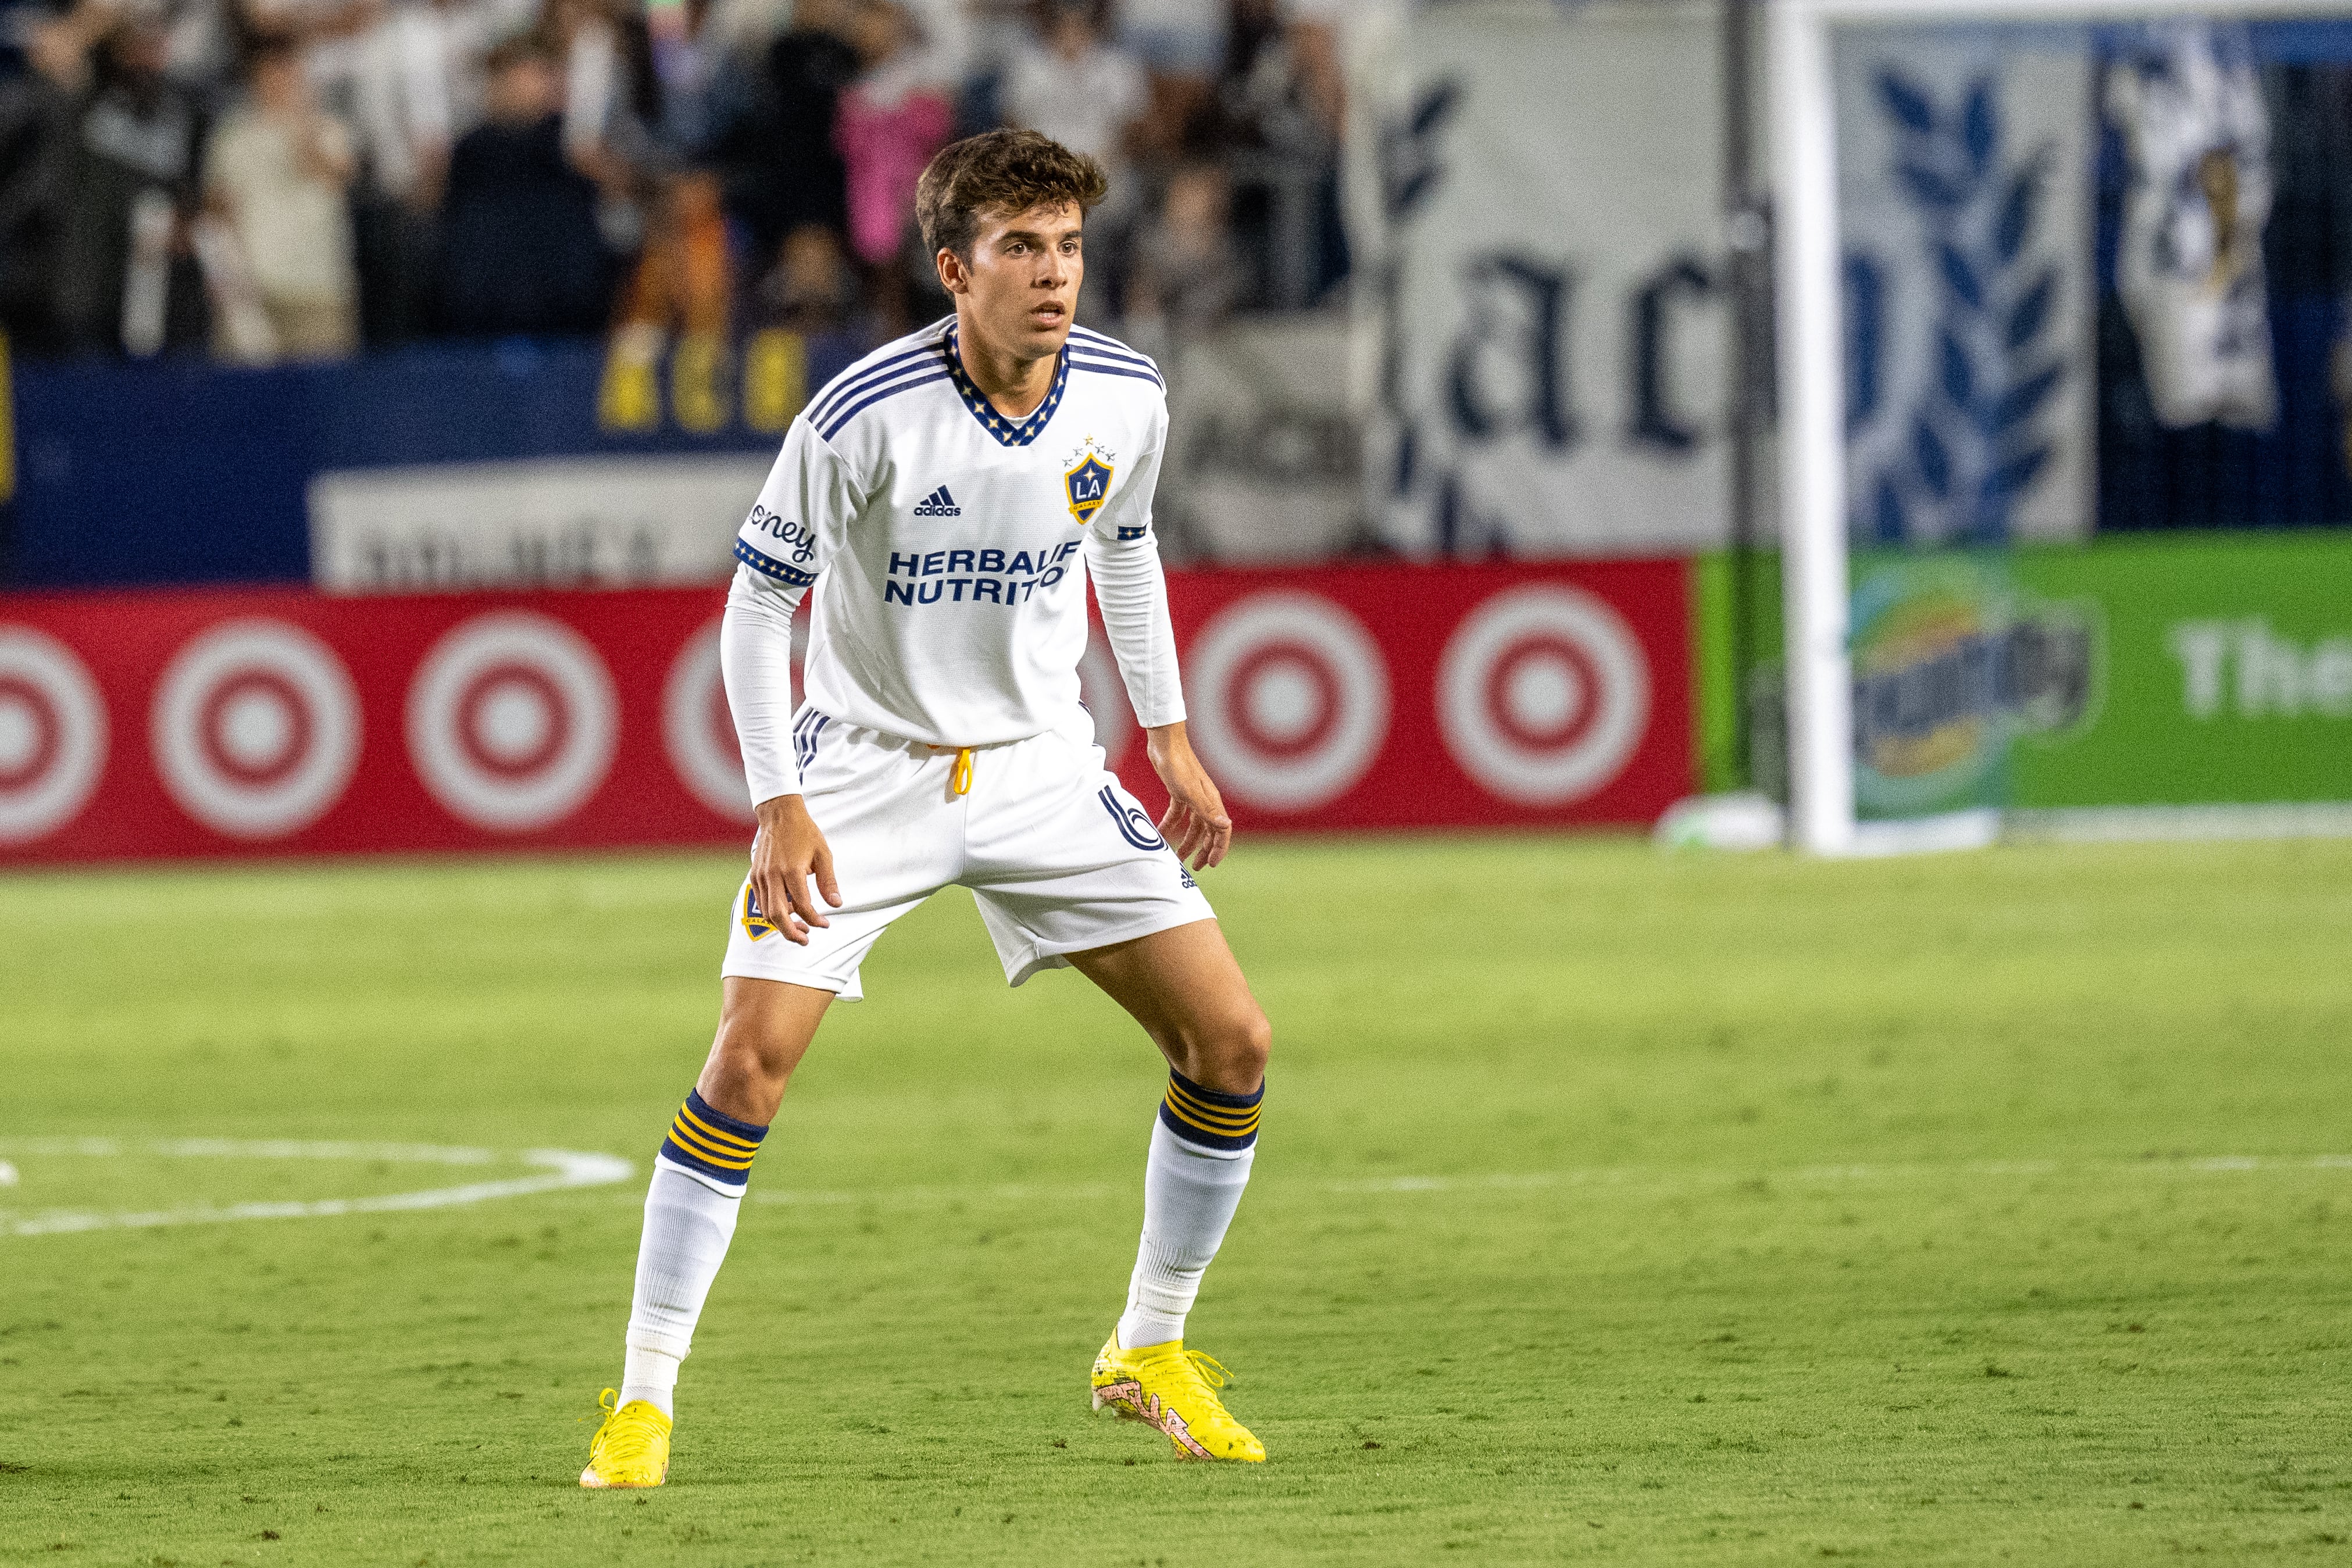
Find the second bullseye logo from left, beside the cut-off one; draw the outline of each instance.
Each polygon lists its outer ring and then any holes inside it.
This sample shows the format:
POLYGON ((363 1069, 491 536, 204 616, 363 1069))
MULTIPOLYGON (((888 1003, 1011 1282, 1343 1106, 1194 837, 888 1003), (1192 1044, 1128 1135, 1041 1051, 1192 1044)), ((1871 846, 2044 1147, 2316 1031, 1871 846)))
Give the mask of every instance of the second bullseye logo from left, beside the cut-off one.
POLYGON ((327 813, 360 762, 360 696, 325 642, 285 621, 226 621, 172 656, 148 715, 172 799, 233 839, 327 813))

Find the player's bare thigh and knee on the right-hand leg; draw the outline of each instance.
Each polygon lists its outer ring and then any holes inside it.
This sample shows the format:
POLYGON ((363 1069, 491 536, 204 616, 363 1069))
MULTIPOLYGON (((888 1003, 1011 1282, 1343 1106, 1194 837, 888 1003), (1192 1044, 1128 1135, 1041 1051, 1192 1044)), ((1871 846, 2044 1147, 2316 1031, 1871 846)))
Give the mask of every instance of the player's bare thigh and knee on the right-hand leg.
POLYGON ((1272 1025, 1214 919, 1068 954, 1143 1025, 1169 1065, 1218 1093, 1256 1093, 1272 1025))

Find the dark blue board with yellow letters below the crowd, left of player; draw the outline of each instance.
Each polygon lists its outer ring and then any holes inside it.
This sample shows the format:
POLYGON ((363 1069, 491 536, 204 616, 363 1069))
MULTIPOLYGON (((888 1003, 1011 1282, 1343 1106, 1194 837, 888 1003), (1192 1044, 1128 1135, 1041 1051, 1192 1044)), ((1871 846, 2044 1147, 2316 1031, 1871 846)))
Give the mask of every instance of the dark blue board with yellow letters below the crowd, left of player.
MULTIPOLYGON (((16 364, 12 588, 310 581, 322 473, 774 451, 849 339, 757 334, 652 357, 590 341, 435 343, 339 364, 16 364)), ((750 498, 746 496, 746 505, 750 498)))

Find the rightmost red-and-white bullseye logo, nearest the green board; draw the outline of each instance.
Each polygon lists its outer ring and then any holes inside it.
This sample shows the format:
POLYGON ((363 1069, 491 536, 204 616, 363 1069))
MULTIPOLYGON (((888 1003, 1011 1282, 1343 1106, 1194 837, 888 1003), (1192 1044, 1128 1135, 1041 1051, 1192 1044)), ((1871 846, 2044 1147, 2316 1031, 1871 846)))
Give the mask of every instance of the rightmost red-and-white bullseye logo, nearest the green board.
POLYGON ((1437 722, 1475 780, 1564 806, 1623 771, 1649 726, 1649 661, 1581 588, 1512 588, 1470 611, 1437 665, 1437 722))

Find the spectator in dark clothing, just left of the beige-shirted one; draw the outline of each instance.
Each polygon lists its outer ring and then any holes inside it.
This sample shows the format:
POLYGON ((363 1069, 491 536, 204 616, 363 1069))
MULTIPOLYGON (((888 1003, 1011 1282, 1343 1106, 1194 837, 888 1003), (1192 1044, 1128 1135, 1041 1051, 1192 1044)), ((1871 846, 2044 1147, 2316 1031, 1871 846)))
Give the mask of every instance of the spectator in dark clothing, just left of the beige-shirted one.
POLYGON ((73 118, 49 292, 68 350, 148 355, 205 341, 188 249, 205 127, 165 75, 167 42, 153 21, 115 24, 73 118))

